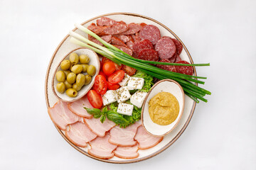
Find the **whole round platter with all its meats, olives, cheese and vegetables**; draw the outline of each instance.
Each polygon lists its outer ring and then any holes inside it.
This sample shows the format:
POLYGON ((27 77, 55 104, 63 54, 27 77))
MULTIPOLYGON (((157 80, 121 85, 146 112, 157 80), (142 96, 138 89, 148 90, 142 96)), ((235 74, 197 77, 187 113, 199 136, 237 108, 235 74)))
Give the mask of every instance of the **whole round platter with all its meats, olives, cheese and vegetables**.
POLYGON ((207 102, 210 91, 197 86, 206 77, 195 66, 208 64, 193 64, 174 32, 139 14, 108 13, 75 27, 46 74, 48 114, 60 135, 82 154, 117 164, 170 147, 198 99, 207 102))

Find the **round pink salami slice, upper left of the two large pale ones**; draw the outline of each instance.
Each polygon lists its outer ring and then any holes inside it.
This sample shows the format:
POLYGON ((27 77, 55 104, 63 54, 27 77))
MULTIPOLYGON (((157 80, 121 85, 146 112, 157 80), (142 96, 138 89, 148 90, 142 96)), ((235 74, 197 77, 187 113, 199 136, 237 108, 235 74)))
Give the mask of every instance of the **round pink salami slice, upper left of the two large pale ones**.
POLYGON ((142 40, 150 40, 153 45, 161 38, 160 30, 154 25, 146 25, 139 32, 142 40))

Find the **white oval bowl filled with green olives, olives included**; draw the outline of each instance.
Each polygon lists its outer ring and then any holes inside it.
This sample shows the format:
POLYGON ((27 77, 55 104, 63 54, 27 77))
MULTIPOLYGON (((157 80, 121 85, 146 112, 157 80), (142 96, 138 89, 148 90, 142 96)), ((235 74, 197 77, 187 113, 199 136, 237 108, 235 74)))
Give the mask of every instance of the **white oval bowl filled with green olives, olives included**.
POLYGON ((100 72, 100 59, 97 54, 80 47, 63 57, 55 69, 52 89, 61 101, 76 101, 87 94, 100 72))

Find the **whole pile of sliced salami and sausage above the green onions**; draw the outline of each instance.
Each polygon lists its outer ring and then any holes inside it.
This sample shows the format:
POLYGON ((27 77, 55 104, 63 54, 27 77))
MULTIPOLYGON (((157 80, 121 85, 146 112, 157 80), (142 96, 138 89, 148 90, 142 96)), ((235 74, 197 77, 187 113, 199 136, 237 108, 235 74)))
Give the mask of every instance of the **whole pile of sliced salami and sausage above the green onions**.
MULTIPOLYGON (((155 62, 189 64, 181 60, 182 43, 175 38, 168 36, 161 37, 159 28, 154 25, 146 25, 146 23, 127 24, 124 21, 114 21, 111 18, 102 17, 97 19, 97 25, 91 23, 87 28, 99 35, 106 42, 109 42, 135 58, 155 62)), ((102 45, 100 41, 90 35, 88 39, 102 45)), ((191 66, 158 64, 156 67, 181 74, 193 74, 193 67, 191 66)))

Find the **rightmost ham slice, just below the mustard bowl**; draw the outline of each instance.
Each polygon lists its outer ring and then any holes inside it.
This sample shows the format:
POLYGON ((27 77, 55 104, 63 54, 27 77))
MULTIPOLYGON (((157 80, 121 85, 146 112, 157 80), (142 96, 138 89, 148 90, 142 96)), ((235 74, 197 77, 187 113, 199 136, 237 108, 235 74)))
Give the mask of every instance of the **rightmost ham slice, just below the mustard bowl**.
POLYGON ((149 133, 144 130, 144 128, 139 126, 137 130, 137 134, 134 137, 134 140, 137 140, 139 143, 139 149, 149 149, 151 147, 156 146, 164 139, 164 137, 154 137, 152 135, 149 135, 149 133))

